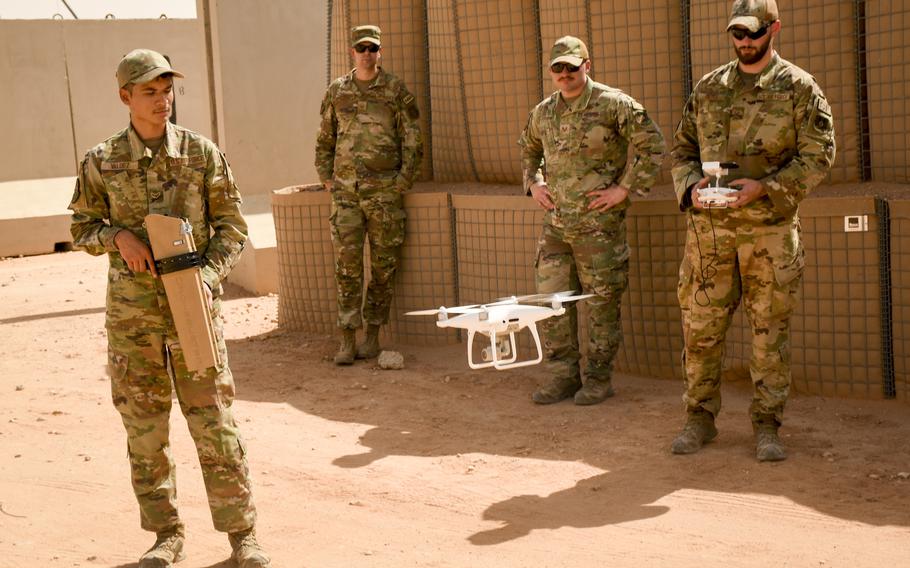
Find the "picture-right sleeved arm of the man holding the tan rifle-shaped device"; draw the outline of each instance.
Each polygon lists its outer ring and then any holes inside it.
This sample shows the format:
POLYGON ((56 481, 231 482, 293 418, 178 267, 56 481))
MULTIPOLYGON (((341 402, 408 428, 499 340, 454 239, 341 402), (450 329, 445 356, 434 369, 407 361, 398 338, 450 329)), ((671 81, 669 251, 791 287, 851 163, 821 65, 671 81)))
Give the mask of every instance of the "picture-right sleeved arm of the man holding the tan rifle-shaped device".
POLYGON ((247 226, 240 214, 240 192, 224 154, 214 146, 207 151, 210 154, 205 168, 206 220, 212 238, 205 250, 202 279, 210 290, 215 290, 240 259, 247 226))

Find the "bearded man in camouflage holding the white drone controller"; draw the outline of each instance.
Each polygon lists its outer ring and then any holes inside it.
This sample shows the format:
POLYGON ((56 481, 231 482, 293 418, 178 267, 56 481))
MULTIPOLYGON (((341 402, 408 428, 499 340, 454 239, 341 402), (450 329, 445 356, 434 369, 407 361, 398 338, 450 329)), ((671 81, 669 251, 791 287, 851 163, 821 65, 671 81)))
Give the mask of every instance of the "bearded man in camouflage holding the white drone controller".
POLYGON ((774 51, 774 0, 736 0, 727 26, 737 59, 695 86, 676 130, 673 182, 688 212, 679 272, 686 425, 677 454, 717 435, 724 336, 743 300, 752 326, 750 409, 760 461, 786 458, 777 431, 790 390, 790 314, 803 272, 799 203, 834 161, 831 109, 808 73, 774 51), (705 209, 702 163, 735 162, 727 209, 705 209))

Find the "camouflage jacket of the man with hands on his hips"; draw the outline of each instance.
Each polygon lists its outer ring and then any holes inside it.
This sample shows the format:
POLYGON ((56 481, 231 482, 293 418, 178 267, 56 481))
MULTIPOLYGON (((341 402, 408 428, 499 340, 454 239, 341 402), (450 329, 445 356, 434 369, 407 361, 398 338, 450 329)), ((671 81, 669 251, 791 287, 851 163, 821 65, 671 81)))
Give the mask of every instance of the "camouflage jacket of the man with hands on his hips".
MULTIPOLYGON (((558 112, 559 104, 557 91, 534 107, 518 141, 525 189, 546 181, 556 205, 547 212, 548 223, 596 228, 608 213, 589 211, 586 193, 613 184, 647 193, 660 170, 664 139, 644 107, 590 77, 565 112, 558 112)), ((626 200, 614 209, 628 206, 626 200)))

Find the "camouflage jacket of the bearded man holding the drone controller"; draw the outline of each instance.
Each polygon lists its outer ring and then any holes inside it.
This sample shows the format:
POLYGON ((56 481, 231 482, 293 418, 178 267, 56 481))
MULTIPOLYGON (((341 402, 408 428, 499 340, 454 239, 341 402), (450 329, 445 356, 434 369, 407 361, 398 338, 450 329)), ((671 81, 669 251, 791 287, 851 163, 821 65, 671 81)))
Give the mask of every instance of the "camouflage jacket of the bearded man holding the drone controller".
POLYGON ((702 162, 736 162, 722 184, 761 181, 767 198, 750 204, 767 220, 792 218, 834 162, 831 107, 811 75, 775 53, 751 89, 731 61, 695 86, 676 129, 673 184, 680 207, 704 177, 702 162), (762 211, 763 210, 763 211, 762 211))

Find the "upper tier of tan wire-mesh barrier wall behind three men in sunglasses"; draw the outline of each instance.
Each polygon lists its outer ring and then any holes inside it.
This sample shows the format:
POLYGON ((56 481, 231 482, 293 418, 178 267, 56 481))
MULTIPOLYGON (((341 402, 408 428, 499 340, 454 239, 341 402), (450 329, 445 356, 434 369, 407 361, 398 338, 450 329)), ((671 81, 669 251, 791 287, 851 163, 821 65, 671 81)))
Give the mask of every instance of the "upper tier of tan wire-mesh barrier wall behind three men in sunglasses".
MULTIPOLYGON (((816 77, 834 114, 828 181, 910 181, 910 31, 906 0, 780 5, 775 48, 816 77)), ((588 44, 591 76, 642 102, 670 141, 692 85, 735 57, 730 0, 330 0, 332 76, 348 70, 347 30, 385 29, 386 66, 424 113, 424 178, 518 183, 517 137, 554 88, 553 41, 588 44), (432 95, 432 96, 431 96, 432 95)), ((669 180, 669 163, 661 182, 669 180)))

